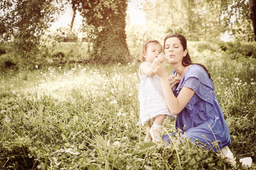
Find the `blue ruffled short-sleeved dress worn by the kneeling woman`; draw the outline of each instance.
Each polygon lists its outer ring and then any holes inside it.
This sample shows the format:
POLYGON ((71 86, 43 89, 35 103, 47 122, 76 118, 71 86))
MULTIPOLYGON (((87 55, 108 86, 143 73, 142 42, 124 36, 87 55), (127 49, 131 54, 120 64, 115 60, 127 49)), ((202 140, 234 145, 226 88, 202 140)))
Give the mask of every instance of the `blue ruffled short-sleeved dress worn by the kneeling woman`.
MULTIPOLYGON (((175 70, 173 75, 177 75, 175 70)), ((174 86, 175 96, 178 96, 183 86, 193 89, 195 94, 181 113, 178 113, 176 129, 182 130, 183 134, 186 132, 186 137, 191 139, 191 142, 198 140, 204 147, 215 152, 230 145, 230 132, 214 94, 213 81, 209 79, 203 67, 192 64, 188 68, 180 83, 174 86), (212 142, 216 140, 218 145, 213 147, 212 142)), ((164 135, 163 140, 167 145, 171 141, 169 135, 164 135)))

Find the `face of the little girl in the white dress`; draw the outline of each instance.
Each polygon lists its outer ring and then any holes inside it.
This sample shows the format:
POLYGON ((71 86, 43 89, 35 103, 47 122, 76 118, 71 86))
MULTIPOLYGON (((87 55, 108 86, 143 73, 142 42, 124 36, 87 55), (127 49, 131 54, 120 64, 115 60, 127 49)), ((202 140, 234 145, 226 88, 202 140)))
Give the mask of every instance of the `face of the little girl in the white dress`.
POLYGON ((144 56, 146 58, 146 62, 152 63, 156 57, 161 53, 161 45, 151 43, 146 48, 146 55, 144 56))

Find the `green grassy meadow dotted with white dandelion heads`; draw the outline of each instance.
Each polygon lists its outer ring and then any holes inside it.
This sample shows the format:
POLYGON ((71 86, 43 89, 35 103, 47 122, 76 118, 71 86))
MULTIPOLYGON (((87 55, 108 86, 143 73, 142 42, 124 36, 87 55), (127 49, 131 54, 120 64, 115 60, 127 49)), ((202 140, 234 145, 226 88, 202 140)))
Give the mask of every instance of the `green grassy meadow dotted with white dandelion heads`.
MULTIPOLYGON (((230 149, 255 162, 256 61, 190 52, 213 77, 230 149)), ((70 64, 1 72, 1 169, 245 169, 188 140, 170 147, 144 142, 146 126, 137 125, 138 67, 70 64)), ((164 121, 167 132, 174 125, 164 121)))

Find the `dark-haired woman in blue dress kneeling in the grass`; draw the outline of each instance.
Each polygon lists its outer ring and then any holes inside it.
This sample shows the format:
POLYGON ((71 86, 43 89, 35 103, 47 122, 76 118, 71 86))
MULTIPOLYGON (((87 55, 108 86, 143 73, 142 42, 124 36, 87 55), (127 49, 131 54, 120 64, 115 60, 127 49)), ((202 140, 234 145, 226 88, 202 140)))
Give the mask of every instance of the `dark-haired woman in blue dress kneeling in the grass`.
MULTIPOLYGON (((208 70, 201 64, 191 62, 186 39, 182 35, 167 35, 164 39, 164 52, 167 62, 174 68, 171 78, 157 59, 151 68, 161 79, 169 111, 177 115, 176 129, 182 130, 183 134, 186 132, 183 136, 191 139, 191 142, 198 140, 204 147, 215 152, 228 148, 230 132, 214 94, 208 70), (218 146, 214 147, 213 142, 216 140, 218 146)), ((163 140, 169 142, 169 135, 164 135, 163 140)))

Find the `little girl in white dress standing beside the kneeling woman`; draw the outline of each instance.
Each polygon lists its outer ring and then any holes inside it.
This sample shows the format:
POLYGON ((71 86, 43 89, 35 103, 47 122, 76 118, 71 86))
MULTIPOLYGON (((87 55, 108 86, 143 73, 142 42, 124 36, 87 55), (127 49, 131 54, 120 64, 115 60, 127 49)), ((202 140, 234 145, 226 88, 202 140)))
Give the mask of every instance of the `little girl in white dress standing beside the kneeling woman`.
POLYGON ((151 69, 151 64, 156 58, 164 62, 165 56, 160 55, 161 50, 162 47, 157 40, 148 40, 142 45, 139 55, 142 60, 139 66, 139 124, 144 125, 148 122, 145 140, 152 139, 153 142, 162 140, 161 125, 166 115, 171 119, 175 118, 164 100, 161 80, 151 69), (152 126, 151 120, 154 120, 152 126))

